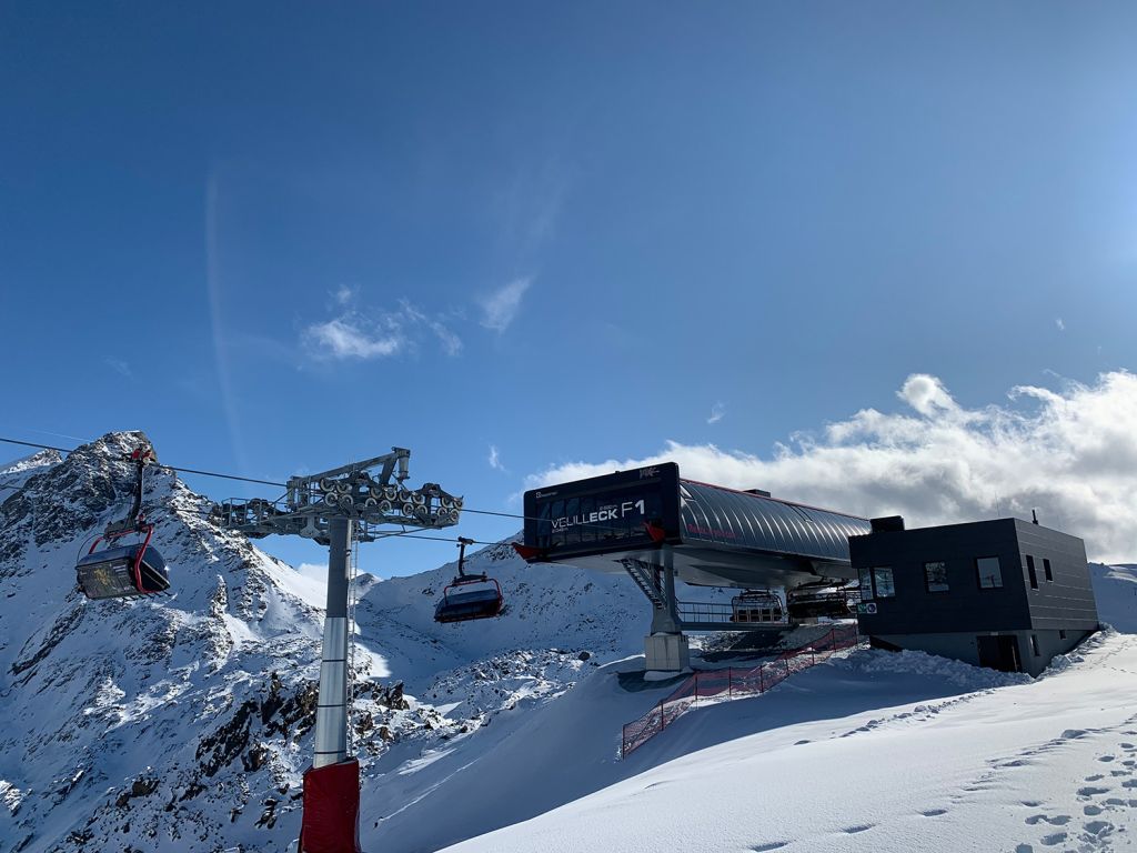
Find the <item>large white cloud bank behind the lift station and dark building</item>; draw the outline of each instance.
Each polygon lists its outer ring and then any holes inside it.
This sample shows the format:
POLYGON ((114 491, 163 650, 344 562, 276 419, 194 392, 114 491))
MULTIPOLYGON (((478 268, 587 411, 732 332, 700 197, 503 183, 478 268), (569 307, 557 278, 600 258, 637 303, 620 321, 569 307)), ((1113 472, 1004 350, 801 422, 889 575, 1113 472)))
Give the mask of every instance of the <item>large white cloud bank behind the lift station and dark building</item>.
POLYGON ((910 527, 1029 519, 1037 507, 1043 524, 1085 539, 1092 558, 1137 561, 1137 375, 1020 386, 1007 403, 977 409, 926 374, 898 396, 910 409, 863 409, 791 437, 771 458, 669 441, 644 458, 555 465, 526 488, 671 461, 692 479, 865 516, 898 513, 910 527))

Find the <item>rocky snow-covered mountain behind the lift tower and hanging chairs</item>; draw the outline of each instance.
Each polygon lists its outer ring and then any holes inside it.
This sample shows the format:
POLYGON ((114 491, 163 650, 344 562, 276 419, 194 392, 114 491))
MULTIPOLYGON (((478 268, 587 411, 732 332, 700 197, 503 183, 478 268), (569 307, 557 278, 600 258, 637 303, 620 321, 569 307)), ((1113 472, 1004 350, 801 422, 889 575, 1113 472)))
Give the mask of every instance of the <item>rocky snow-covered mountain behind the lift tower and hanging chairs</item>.
MULTIPOLYGON (((296 838, 322 586, 215 528, 207 499, 153 470, 146 505, 173 595, 75 589, 81 548, 130 506, 125 457, 142 438, 0 470, 18 489, 0 492, 0 851, 284 851, 296 838)), ((642 641, 645 603, 625 579, 531 569, 507 546, 470 563, 492 564, 501 619, 433 622, 453 565, 358 580, 351 723, 370 812, 385 777, 499 738, 642 641)))

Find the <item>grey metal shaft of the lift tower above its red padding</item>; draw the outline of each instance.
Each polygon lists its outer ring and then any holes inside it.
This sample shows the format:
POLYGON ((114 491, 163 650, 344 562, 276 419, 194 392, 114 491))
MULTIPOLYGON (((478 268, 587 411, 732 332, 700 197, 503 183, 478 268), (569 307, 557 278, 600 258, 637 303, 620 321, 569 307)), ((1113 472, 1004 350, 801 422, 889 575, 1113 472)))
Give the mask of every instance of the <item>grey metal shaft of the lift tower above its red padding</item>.
POLYGON ((319 663, 319 704, 316 706, 316 754, 313 767, 338 764, 348 756, 348 585, 350 582, 350 519, 327 520, 327 615, 319 663))

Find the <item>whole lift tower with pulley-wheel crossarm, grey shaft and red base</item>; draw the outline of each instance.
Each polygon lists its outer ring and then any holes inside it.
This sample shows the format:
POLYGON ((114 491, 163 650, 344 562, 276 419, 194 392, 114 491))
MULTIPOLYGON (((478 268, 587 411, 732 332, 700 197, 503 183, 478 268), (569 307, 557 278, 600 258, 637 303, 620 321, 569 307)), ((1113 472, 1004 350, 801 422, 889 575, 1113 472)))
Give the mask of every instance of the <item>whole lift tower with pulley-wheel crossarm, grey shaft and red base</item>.
POLYGON ((319 663, 316 748, 304 775, 301 853, 358 853, 359 762, 348 756, 348 624, 354 543, 390 533, 377 528, 447 528, 458 522, 462 498, 438 483, 407 489, 410 450, 392 447, 373 459, 310 477, 290 478, 281 500, 226 500, 214 507, 222 527, 254 539, 302 536, 329 546, 327 613, 319 663))

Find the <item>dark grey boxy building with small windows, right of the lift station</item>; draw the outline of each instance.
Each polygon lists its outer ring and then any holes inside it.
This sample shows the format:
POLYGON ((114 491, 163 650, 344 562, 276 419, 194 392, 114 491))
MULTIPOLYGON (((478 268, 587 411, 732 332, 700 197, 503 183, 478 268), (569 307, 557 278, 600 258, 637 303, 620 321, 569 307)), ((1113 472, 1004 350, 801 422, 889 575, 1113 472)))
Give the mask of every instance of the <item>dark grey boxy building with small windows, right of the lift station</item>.
POLYGON ((861 631, 912 648, 1037 676, 1097 630, 1081 539, 1019 519, 905 530, 878 519, 849 538, 861 631))

